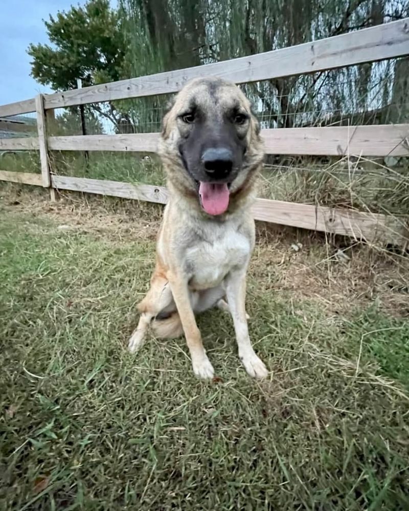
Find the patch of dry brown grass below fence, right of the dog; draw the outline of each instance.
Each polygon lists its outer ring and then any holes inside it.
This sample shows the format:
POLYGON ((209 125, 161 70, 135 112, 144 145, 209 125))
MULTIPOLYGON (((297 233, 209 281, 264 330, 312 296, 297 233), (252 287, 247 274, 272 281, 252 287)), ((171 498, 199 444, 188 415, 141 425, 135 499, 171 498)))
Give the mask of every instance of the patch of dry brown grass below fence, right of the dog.
POLYGON ((254 277, 266 289, 319 302, 330 315, 377 303, 385 313, 409 316, 409 258, 364 245, 341 250, 316 238, 302 233, 260 239, 251 263, 254 277))

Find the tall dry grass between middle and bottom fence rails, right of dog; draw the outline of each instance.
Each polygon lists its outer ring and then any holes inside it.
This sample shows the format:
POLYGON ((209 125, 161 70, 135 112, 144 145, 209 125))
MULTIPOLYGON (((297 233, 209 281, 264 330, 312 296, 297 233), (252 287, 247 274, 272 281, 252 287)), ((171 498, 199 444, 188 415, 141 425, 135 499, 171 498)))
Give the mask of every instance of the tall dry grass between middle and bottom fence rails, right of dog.
POLYGON ((302 204, 352 208, 388 215, 409 215, 407 161, 389 168, 382 159, 319 163, 308 157, 265 165, 260 196, 302 204))

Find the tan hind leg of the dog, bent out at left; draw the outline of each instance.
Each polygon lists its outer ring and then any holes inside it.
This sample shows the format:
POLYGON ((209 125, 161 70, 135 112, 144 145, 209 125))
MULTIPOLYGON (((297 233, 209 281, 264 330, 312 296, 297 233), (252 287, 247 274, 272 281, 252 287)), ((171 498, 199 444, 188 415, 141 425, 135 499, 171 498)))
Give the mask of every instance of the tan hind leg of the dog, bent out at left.
POLYGON ((151 279, 151 286, 145 298, 138 305, 141 312, 138 326, 133 331, 129 342, 128 350, 133 353, 137 351, 143 344, 146 330, 152 318, 166 309, 172 303, 172 292, 169 282, 163 277, 155 277, 151 279))

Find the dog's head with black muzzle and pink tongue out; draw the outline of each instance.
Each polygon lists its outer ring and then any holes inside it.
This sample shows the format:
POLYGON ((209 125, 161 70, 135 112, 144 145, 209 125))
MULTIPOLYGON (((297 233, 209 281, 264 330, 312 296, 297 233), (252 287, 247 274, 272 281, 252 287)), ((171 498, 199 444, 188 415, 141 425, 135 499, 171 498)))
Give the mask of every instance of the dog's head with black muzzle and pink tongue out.
POLYGON ((263 159, 260 125, 240 89, 198 78, 174 98, 163 120, 159 153, 173 185, 210 215, 253 181, 263 159))

